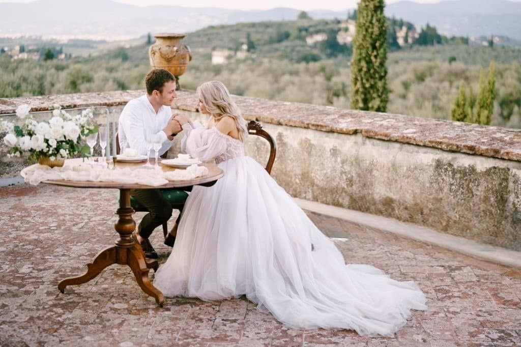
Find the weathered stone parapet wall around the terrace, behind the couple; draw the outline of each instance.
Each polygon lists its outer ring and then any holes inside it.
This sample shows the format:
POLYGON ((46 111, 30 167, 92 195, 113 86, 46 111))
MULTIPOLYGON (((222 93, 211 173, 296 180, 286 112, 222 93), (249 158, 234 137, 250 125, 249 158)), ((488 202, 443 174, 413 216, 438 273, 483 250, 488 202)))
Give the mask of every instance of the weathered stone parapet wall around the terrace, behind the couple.
MULTIPOLYGON (((120 109, 143 93, 56 95, 48 102, 45 97, 0 99, 0 117, 23 103, 39 110, 54 104, 120 109)), ((178 94, 173 108, 206 119, 194 112, 193 91, 178 94)), ((521 250, 521 131, 249 97, 236 100, 246 119, 261 121, 276 138, 272 176, 292 196, 521 250)), ((264 165, 268 146, 263 141, 250 139, 247 151, 264 165)), ((172 152, 177 150, 178 144, 172 152)))

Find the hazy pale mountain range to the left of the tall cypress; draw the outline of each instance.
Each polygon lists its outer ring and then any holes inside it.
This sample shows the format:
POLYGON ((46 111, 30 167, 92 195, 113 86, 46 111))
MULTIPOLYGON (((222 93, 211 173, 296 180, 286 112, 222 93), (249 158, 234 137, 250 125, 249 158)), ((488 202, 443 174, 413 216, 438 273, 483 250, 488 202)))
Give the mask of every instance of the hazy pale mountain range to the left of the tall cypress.
MULTIPOLYGON (((132 6, 111 0, 39 0, 0 3, 0 36, 43 35, 129 39, 147 32, 192 32, 210 25, 294 20, 300 10, 240 11, 214 7, 132 6)), ((310 11, 316 18, 345 18, 347 10, 310 11)))

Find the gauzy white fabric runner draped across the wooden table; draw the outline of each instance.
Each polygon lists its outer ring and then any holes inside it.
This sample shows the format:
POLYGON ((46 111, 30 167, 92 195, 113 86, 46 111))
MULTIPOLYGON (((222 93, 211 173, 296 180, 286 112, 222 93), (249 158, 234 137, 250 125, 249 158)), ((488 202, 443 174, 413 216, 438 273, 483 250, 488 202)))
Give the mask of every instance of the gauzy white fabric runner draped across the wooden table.
POLYGON ((115 168, 82 163, 76 166, 50 168, 45 165, 33 165, 22 170, 24 180, 36 185, 46 180, 117 182, 143 184, 157 187, 168 181, 191 180, 205 176, 208 169, 204 166, 192 165, 185 170, 163 172, 153 169, 115 168))

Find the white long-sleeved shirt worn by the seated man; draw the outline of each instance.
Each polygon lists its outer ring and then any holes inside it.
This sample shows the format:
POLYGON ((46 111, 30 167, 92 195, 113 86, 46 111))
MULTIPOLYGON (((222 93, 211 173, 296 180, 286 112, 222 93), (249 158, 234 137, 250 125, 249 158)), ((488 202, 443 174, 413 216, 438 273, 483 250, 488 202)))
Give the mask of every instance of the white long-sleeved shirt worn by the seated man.
MULTIPOLYGON (((173 141, 168 140, 163 128, 166 127, 171 117, 172 110, 169 106, 159 107, 156 113, 146 94, 129 101, 121 111, 118 121, 121 153, 125 148, 134 148, 139 154, 147 155, 145 133, 158 134, 162 138, 163 143, 159 149, 159 155, 168 151, 173 141)), ((152 150, 150 155, 153 157, 154 154, 155 152, 152 150)))

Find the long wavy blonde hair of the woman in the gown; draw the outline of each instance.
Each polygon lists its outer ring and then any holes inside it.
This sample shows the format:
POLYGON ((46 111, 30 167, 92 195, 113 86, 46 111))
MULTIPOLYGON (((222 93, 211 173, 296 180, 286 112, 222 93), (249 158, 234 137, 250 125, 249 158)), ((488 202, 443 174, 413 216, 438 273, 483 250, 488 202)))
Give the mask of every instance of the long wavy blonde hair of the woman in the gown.
POLYGON ((248 136, 247 122, 242 118, 240 108, 231 100, 230 92, 222 82, 205 82, 197 87, 196 93, 216 121, 225 116, 233 118, 239 131, 239 138, 243 142, 246 140, 248 136))

